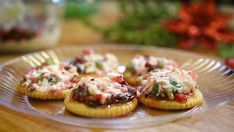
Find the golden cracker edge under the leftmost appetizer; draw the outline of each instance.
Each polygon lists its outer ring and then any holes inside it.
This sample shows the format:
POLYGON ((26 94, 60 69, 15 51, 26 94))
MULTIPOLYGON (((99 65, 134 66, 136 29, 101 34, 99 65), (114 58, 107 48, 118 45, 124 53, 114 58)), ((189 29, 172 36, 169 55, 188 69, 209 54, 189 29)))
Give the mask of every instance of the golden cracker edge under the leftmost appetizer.
POLYGON ((64 99, 65 96, 71 91, 71 89, 64 89, 64 90, 55 90, 55 91, 28 91, 27 87, 19 85, 17 90, 32 98, 42 99, 42 100, 49 100, 49 99, 64 99))

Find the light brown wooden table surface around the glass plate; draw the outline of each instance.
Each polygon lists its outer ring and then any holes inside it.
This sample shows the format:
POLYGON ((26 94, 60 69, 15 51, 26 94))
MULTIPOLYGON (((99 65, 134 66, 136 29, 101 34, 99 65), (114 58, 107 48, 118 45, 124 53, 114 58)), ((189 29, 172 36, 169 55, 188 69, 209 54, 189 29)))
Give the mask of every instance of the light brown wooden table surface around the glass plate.
MULTIPOLYGON (((111 18, 112 19, 112 18, 111 18)), ((114 20, 114 19, 113 19, 114 20)), ((62 36, 59 46, 69 44, 104 43, 100 34, 84 26, 77 20, 70 20, 62 24, 62 36)), ((207 57, 216 57, 210 51, 193 50, 207 57)), ((22 53, 0 54, 0 63, 22 55, 22 53)), ((191 117, 173 122, 141 129, 125 131, 234 131, 234 101, 215 110, 196 114, 191 117), (226 120, 229 119, 229 120, 226 120), (233 121, 230 121, 233 119, 233 121), (219 124, 219 125, 217 125, 219 124)), ((0 131, 120 131, 110 129, 90 129, 62 124, 50 119, 38 118, 32 115, 16 112, 0 106, 0 131)))

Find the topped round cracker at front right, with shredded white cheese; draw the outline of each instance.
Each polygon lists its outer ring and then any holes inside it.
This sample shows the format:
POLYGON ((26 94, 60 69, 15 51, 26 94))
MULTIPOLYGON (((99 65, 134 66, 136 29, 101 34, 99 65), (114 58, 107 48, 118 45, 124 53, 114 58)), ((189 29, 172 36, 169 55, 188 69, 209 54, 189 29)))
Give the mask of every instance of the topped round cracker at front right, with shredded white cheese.
POLYGON ((188 109, 203 102, 196 84, 197 75, 180 68, 157 69, 140 77, 142 91, 139 100, 163 110, 188 109))

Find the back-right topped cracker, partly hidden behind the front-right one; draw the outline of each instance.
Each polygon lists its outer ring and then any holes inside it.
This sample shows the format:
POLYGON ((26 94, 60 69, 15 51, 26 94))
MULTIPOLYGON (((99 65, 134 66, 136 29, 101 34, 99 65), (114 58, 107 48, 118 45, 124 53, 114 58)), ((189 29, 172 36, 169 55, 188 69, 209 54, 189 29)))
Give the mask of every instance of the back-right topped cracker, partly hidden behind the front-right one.
POLYGON ((139 76, 154 69, 173 69, 174 67, 177 67, 177 63, 171 59, 148 55, 136 55, 126 66, 124 79, 130 85, 136 86, 138 85, 137 78, 139 76))

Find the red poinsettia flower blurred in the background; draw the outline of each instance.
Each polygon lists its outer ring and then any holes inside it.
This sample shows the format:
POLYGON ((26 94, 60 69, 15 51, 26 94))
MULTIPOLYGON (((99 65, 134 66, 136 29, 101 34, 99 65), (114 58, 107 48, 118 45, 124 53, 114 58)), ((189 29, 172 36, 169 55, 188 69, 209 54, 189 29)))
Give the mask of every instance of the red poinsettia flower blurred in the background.
POLYGON ((201 44, 216 49, 217 41, 234 41, 234 32, 227 26, 232 18, 231 14, 217 12, 214 1, 208 0, 182 4, 179 20, 168 21, 164 26, 181 36, 180 48, 191 48, 195 44, 201 44))

